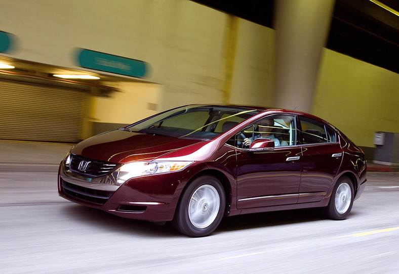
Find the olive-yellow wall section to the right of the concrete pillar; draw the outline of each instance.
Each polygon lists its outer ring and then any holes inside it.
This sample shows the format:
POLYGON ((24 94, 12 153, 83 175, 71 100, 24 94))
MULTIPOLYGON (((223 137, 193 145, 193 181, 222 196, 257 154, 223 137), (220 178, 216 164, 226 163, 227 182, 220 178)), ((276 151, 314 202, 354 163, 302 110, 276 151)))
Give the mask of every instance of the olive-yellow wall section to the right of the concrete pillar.
POLYGON ((399 74, 324 50, 314 115, 356 145, 373 147, 375 131, 399 132, 399 74))

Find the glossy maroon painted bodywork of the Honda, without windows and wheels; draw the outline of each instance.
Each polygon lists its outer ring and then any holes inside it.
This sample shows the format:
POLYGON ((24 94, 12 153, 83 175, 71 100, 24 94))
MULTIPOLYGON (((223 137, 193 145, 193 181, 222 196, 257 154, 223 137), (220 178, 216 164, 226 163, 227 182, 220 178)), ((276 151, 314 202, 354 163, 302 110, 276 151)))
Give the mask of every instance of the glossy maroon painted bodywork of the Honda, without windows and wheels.
MULTIPOLYGON (((213 111, 218 107, 209 108, 213 111)), ((244 112, 256 109, 239 108, 244 112)), ((179 201, 187 187, 195 178, 206 174, 215 177, 223 188, 226 197, 224 216, 328 206, 334 186, 342 176, 351 179, 355 199, 361 195, 366 186, 364 154, 342 132, 310 114, 280 109, 257 110, 260 111, 258 114, 255 113, 212 139, 201 140, 189 136, 176 138, 125 130, 93 136, 71 150, 72 158, 83 157, 83 162, 102 161, 104 166, 113 163, 118 165, 112 173, 95 177, 72 170, 64 159, 59 169, 59 194, 73 202, 114 215, 156 222, 174 220, 176 208, 181 206, 179 201), (301 144, 299 140, 302 133, 298 128, 295 130, 296 143, 290 146, 273 148, 273 145, 255 150, 243 148, 234 141, 237 140, 234 136, 248 126, 276 114, 290 115, 296 121, 298 117, 306 117, 322 123, 325 128, 335 132, 336 141, 301 144), (188 163, 182 170, 135 175, 123 182, 119 181, 122 171, 116 169, 136 162, 182 161, 188 163)), ((161 128, 161 124, 156 128, 161 128)), ((81 168, 80 164, 78 168, 81 168)))

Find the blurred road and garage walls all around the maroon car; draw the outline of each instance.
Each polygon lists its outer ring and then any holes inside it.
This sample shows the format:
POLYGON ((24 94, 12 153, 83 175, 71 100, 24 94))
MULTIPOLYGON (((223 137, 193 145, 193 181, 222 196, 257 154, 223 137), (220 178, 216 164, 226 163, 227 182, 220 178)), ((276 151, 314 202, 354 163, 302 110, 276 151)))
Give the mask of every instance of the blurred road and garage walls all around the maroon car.
POLYGON ((240 215, 206 238, 79 206, 56 183, 72 143, 193 103, 309 112, 373 159, 376 131, 399 136, 397 3, 0 0, 0 272, 399 273, 399 166, 369 164, 345 221, 240 215))

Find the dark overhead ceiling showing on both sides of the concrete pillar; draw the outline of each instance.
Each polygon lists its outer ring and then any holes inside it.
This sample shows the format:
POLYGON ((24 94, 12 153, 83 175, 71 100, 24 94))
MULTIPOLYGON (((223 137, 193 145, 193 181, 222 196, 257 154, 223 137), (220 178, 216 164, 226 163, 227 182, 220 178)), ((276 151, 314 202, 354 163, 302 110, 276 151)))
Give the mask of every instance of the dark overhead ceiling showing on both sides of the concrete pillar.
MULTIPOLYGON (((278 0, 193 0, 273 28, 278 0)), ((399 2, 336 0, 326 47, 399 73, 399 2)))

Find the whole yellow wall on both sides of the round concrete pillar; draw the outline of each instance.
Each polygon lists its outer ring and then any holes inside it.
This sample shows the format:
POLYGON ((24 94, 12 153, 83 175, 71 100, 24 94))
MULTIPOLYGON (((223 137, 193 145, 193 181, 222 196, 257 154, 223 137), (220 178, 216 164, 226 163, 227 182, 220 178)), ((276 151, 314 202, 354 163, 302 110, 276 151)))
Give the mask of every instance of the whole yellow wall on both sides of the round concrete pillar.
MULTIPOLYGON (((2 56, 77 69, 78 47, 148 62, 145 80, 158 85, 126 85, 95 98, 94 121, 136 121, 155 112, 146 108, 153 98, 157 111, 273 104, 270 28, 188 0, 0 0, 0 7, 0 30, 18 41, 2 56)), ((398 93, 398 74, 325 49, 312 113, 372 147, 375 131, 399 132, 398 93)))

